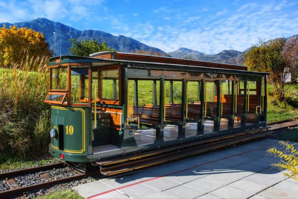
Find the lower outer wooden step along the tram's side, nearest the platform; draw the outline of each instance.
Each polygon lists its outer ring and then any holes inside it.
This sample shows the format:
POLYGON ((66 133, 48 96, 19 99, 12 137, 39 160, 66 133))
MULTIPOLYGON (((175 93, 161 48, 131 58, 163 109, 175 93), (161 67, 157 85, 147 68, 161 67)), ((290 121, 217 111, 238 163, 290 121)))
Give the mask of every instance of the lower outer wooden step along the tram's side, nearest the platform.
POLYGON ((184 149, 184 150, 181 150, 181 151, 175 151, 175 152, 172 152, 172 153, 163 154, 163 155, 159 155, 159 156, 156 156, 156 157, 151 157, 151 158, 147 158, 147 159, 143 159, 143 160, 124 163, 124 164, 121 164, 121 165, 102 168, 102 169, 100 169, 100 172, 103 175, 106 175, 106 176, 116 175, 116 174, 119 174, 119 173, 133 171, 133 170, 136 170, 136 169, 141 169, 141 168, 144 168, 144 167, 148 167, 148 166, 152 166, 152 165, 172 161, 172 160, 175 160, 175 159, 184 158, 186 156, 203 153, 203 152, 206 152, 206 151, 209 151, 209 150, 212 150, 212 149, 221 148, 221 147, 224 147, 224 146, 236 144, 238 142, 250 140, 250 139, 253 139, 253 138, 262 137, 262 136, 269 135, 269 134, 272 134, 272 133, 274 133, 274 131, 255 132, 253 134, 243 135, 241 137, 236 137, 236 138, 231 138, 231 139, 228 139, 228 140, 222 140, 222 141, 217 141, 215 143, 210 143, 210 144, 208 144, 208 146, 207 145, 196 146, 196 147, 193 147, 193 148, 188 148, 188 149, 184 149))

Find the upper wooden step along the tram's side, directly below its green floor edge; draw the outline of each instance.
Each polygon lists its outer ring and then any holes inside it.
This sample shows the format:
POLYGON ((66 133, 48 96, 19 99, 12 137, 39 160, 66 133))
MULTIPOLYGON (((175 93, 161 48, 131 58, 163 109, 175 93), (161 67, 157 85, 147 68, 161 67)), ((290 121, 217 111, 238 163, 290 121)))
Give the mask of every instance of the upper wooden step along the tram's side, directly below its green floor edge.
POLYGON ((124 157, 119 157, 119 158, 112 158, 112 159, 108 159, 108 160, 104 160, 104 161, 98 161, 97 164, 99 164, 100 166, 107 166, 107 165, 112 165, 112 164, 116 164, 116 163, 123 163, 126 161, 132 161, 132 160, 136 160, 139 158, 145 158, 148 156, 153 156, 153 155, 158 155, 161 153, 165 153, 165 152, 170 152, 173 150, 178 150, 178 149, 182 149, 182 148, 186 148, 186 147, 191 147, 194 145, 201 145, 201 144, 206 144, 209 142, 214 142, 214 141, 218 141, 218 140, 222 140, 222 139, 227 139, 227 138, 231 138, 231 137, 235 137, 235 136, 239 136, 239 135, 243 135, 243 134, 247 134, 247 133, 252 133, 252 132, 256 132, 256 131, 260 131, 260 130, 265 130, 268 129, 269 127, 261 127, 258 129, 251 129, 251 130, 247 130, 247 131, 242 131, 242 132, 236 132, 236 133, 231 133, 228 135, 221 135, 221 136, 217 136, 217 137, 212 137, 212 138, 207 138, 204 140, 199 140, 199 141, 193 141, 193 142, 188 142, 188 143, 184 143, 184 144, 180 144, 180 145, 176 145, 176 146, 169 146, 169 147, 164 147, 162 149, 155 149, 155 150, 151 150, 148 152, 142 152, 139 154, 133 154, 133 155, 127 155, 124 157))

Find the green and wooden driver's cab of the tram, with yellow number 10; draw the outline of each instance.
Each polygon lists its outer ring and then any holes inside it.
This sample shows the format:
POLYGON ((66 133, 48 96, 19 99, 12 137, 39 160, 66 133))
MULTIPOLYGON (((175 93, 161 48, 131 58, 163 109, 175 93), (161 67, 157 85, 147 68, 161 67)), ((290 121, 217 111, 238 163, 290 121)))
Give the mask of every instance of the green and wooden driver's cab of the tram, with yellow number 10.
POLYGON ((121 65, 77 56, 50 58, 46 64, 49 92, 44 102, 51 104, 51 128, 60 133, 51 144, 88 154, 119 149, 121 65))

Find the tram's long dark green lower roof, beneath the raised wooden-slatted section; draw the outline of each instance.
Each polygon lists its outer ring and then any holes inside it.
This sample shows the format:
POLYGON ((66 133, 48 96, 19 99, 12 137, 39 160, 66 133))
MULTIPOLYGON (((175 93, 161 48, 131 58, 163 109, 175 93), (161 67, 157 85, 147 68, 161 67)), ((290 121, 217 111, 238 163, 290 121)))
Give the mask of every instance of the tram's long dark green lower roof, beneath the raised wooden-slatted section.
MULTIPOLYGON (((159 57, 159 56, 157 56, 159 57)), ((254 72, 246 70, 222 69, 202 66, 167 64, 144 61, 128 61, 117 59, 104 59, 94 57, 83 57, 75 55, 63 55, 46 59, 44 63, 48 66, 66 64, 66 63, 92 63, 92 66, 107 66, 113 64, 129 64, 131 68, 148 69, 148 70, 177 70, 177 71, 197 71, 197 72, 213 72, 213 73, 228 73, 228 74, 246 74, 246 75, 268 75, 269 72, 254 72)), ((216 62, 209 62, 216 63, 216 62)), ((231 64, 230 64, 231 65, 231 64)))

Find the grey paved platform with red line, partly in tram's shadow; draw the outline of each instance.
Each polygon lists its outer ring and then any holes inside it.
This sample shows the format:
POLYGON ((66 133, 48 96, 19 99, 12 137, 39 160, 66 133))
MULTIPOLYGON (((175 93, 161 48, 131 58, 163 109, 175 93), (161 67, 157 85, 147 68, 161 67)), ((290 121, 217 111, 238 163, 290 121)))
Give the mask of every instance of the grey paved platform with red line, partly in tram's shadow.
POLYGON ((73 187, 85 198, 298 198, 266 139, 73 187))

